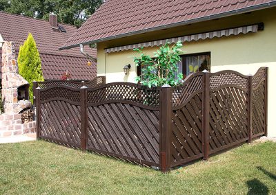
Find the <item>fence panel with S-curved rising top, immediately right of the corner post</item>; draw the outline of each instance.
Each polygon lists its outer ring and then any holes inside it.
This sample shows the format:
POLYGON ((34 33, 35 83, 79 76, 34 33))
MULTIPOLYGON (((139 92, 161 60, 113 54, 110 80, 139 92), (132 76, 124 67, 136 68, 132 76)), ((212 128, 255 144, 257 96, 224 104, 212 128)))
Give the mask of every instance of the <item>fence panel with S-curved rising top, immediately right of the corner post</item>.
POLYGON ((203 77, 204 73, 195 73, 172 89, 171 167, 203 157, 203 77))

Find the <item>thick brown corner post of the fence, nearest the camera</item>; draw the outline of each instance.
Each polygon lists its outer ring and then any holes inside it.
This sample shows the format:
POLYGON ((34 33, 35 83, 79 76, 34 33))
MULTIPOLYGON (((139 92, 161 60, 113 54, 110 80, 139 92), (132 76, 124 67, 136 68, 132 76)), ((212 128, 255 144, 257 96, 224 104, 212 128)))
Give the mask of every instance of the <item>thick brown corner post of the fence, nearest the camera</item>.
POLYGON ((162 172, 170 169, 171 121, 172 121, 172 91, 168 84, 161 87, 160 97, 160 165, 162 172))

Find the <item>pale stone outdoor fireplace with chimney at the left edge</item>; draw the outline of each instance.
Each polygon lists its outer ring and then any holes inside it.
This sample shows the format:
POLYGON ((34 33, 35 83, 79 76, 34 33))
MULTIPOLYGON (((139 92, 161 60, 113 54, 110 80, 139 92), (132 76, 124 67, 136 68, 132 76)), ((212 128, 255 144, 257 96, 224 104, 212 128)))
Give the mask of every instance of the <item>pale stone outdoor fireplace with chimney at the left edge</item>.
POLYGON ((19 75, 14 43, 5 42, 2 47, 2 100, 5 113, 0 115, 0 137, 35 131, 35 121, 22 124, 19 114, 24 108, 32 106, 28 100, 17 100, 17 89, 24 84, 28 82, 19 75))

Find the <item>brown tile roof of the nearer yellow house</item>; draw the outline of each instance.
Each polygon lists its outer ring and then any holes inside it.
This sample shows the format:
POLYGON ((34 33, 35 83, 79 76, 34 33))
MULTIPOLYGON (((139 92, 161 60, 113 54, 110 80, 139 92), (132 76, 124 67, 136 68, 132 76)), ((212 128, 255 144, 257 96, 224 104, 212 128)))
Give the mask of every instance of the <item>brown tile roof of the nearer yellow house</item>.
POLYGON ((61 49, 276 5, 276 0, 108 0, 61 49), (273 3, 271 3, 273 2, 273 3), (270 4, 268 4, 270 3, 270 4), (246 10, 245 10, 246 9, 246 10), (220 15, 219 15, 220 14, 220 15), (166 26, 165 26, 166 25, 166 26))

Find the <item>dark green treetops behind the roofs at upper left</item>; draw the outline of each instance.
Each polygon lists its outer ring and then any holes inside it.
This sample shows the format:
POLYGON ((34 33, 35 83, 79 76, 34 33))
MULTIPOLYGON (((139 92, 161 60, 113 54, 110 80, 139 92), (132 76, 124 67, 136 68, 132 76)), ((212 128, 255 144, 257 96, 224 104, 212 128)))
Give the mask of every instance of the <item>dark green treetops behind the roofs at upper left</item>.
POLYGON ((79 27, 101 3, 103 0, 0 0, 0 11, 37 19, 48 19, 53 12, 60 23, 79 27))

